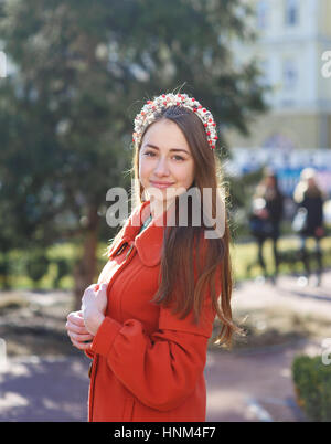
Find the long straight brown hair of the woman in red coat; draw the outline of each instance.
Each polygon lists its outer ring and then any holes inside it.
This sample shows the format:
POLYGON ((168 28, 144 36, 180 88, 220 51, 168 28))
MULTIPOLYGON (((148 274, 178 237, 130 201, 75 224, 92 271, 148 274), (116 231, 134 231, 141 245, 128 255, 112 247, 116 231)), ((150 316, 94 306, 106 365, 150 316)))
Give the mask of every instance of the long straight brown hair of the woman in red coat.
MULTIPOLYGON (((210 292, 213 308, 221 321, 221 331, 214 338, 214 343, 231 346, 234 332, 242 334, 232 319, 231 297, 233 290, 233 273, 229 255, 231 233, 226 213, 227 198, 223 183, 221 162, 210 148, 203 124, 190 109, 172 106, 164 108, 156 120, 169 119, 175 123, 184 134, 194 159, 195 177, 192 188, 200 191, 197 199, 203 197, 203 189, 210 189, 212 201, 202 199, 200 226, 192 224, 194 198, 188 199, 188 226, 167 226, 163 236, 163 249, 160 266, 160 285, 153 297, 156 304, 168 307, 171 305, 173 314, 184 318, 193 310, 195 321, 201 319, 202 307, 206 292, 210 292), (221 190, 221 192, 220 192, 221 190), (222 202, 221 202, 222 201, 222 202), (218 205, 218 207, 217 207, 218 205), (210 208, 212 207, 212 208, 210 208), (206 226, 203 214, 210 214, 213 220, 217 215, 217 208, 223 208, 223 233, 215 239, 204 237, 204 232, 211 226, 217 230, 220 224, 212 222, 206 226), (203 255, 201 249, 203 249, 203 255), (202 257, 203 256, 203 257, 202 257), (197 271, 197 281, 194 271, 197 271), (221 283, 221 294, 216 292, 216 279, 221 283), (175 295, 175 296, 174 296, 175 295)), ((132 200, 136 205, 145 201, 143 188, 139 181, 139 151, 142 145, 135 146, 132 170, 135 183, 132 200)), ((185 194, 185 193, 183 193, 185 194)), ((178 222, 180 199, 175 198, 175 216, 178 222)), ((194 195, 194 193, 192 194, 194 195)), ((220 221, 218 221, 220 222, 220 221)), ((222 225, 222 223, 221 223, 222 225)), ((114 239, 117 242, 120 232, 114 239)), ((111 245, 110 245, 111 246, 111 245)))

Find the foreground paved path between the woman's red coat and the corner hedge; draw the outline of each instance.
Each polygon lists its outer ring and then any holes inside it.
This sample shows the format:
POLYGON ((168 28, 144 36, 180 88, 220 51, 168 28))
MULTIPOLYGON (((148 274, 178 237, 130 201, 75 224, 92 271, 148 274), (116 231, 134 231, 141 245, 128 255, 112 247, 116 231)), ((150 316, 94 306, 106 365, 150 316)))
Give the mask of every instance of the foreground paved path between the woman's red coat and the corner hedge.
POLYGON ((312 345, 228 356, 210 353, 205 370, 207 421, 305 421, 296 404, 290 366, 308 346, 312 345))

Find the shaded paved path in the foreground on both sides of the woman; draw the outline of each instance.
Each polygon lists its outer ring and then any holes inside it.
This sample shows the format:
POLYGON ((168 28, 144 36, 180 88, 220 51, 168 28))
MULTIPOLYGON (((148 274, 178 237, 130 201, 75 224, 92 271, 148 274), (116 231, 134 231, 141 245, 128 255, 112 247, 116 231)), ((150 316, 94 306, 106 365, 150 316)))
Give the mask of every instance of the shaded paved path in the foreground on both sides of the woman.
MULTIPOLYGON (((207 421, 301 421, 290 378, 302 350, 209 352, 207 421)), ((88 359, 14 358, 0 372, 0 421, 86 421, 88 359)))

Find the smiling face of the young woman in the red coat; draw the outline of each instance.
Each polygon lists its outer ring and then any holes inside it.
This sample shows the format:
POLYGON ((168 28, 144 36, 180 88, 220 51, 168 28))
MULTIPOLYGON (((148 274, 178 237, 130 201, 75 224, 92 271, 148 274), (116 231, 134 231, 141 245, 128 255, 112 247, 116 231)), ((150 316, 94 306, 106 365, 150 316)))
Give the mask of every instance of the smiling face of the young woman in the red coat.
POLYGON ((157 201, 182 194, 193 183, 191 148, 173 121, 159 120, 147 129, 139 152, 139 179, 157 201))

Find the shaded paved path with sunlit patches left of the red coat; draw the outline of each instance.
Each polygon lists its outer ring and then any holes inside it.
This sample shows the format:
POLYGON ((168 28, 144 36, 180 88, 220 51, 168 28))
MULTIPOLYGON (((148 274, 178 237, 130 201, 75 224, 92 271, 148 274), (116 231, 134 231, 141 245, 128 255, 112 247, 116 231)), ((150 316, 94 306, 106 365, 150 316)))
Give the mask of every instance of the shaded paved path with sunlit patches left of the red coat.
POLYGON ((86 421, 87 358, 12 358, 0 371, 0 421, 86 421))

